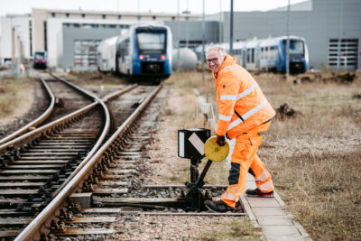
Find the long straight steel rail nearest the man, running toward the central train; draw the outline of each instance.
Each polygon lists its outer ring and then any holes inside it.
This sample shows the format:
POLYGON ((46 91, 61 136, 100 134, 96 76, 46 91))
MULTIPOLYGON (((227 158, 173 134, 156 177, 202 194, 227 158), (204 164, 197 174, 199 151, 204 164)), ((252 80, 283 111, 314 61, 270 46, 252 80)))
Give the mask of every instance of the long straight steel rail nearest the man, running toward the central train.
POLYGON ((112 134, 106 143, 103 144, 99 150, 97 150, 97 153, 95 153, 94 156, 84 165, 83 169, 79 171, 71 181, 69 181, 68 185, 66 185, 64 189, 60 191, 59 195, 52 199, 51 203, 45 209, 43 209, 42 212, 36 218, 34 218, 32 222, 27 227, 25 227, 14 240, 35 240, 42 235, 40 233, 42 227, 46 229, 45 226, 51 223, 51 219, 55 216, 57 210, 60 209, 62 203, 72 192, 80 189, 79 185, 88 177, 95 164, 100 161, 103 154, 106 153, 107 149, 116 141, 119 136, 125 134, 125 131, 128 129, 128 127, 132 125, 136 117, 142 113, 143 109, 151 102, 153 97, 155 97, 161 88, 162 84, 158 88, 155 88, 149 97, 144 99, 143 103, 134 110, 133 114, 129 116, 122 125, 119 126, 119 128, 116 130, 116 133, 112 134))

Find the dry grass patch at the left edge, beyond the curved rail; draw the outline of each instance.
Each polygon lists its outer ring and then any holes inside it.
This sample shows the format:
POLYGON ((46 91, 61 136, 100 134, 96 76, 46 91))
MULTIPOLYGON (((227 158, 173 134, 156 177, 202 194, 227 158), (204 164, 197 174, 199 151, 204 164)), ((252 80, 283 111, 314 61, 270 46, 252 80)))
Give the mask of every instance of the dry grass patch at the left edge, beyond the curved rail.
POLYGON ((16 108, 32 102, 33 83, 28 78, 0 78, 0 118, 14 116, 16 108))

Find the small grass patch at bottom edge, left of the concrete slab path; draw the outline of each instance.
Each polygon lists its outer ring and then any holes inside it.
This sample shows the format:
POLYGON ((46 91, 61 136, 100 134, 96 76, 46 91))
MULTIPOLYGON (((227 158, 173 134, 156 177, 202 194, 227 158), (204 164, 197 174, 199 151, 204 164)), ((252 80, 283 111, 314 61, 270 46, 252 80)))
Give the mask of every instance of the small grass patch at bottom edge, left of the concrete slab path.
POLYGON ((202 241, 262 240, 261 228, 254 227, 247 219, 218 223, 218 229, 203 232, 195 238, 202 241))

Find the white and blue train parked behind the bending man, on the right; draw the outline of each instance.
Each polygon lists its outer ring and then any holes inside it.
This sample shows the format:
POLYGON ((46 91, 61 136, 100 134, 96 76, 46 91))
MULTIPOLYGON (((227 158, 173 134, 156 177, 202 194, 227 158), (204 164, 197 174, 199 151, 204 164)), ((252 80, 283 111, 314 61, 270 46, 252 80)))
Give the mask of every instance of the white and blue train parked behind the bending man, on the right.
MULTIPOLYGON (((290 36, 290 73, 304 73, 310 69, 309 51, 304 38, 290 36)), ((270 37, 233 43, 233 56, 246 70, 286 72, 287 37, 270 37)), ((229 43, 219 44, 229 51, 229 43)), ((206 45, 206 51, 213 46, 206 45)), ((195 50, 200 56, 202 46, 195 50)))

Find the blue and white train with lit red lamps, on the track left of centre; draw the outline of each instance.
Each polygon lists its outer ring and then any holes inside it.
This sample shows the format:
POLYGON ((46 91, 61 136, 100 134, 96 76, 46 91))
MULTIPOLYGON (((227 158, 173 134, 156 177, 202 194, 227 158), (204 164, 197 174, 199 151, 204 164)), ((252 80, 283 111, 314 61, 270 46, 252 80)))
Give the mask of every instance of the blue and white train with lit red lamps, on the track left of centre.
POLYGON ((99 43, 97 70, 159 83, 171 75, 171 29, 137 25, 128 32, 99 43))

